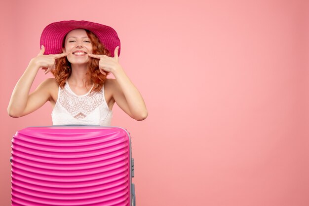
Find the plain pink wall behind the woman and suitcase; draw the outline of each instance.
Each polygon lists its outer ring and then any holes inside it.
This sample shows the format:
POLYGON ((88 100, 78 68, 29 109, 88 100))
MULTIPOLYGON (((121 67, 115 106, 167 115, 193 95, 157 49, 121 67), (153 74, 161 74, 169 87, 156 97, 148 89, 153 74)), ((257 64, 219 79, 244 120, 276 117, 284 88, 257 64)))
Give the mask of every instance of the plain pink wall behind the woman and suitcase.
MULTIPOLYGON (((1 3, 0 205, 10 205, 12 135, 51 125, 45 104, 6 108, 43 28, 112 26, 146 120, 116 105, 132 135, 138 206, 309 205, 309 3, 306 0, 11 0, 1 3)), ((34 84, 51 75, 39 72, 34 84)))

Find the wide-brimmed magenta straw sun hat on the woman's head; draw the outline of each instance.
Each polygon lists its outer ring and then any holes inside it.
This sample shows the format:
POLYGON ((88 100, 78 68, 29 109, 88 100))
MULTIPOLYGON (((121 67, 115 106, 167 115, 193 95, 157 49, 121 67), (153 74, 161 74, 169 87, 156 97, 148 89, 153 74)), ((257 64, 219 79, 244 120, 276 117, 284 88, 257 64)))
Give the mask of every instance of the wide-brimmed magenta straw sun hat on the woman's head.
POLYGON ((112 27, 88 21, 70 20, 47 25, 41 34, 40 48, 42 45, 45 46, 45 55, 62 53, 63 38, 75 29, 85 29, 95 34, 110 51, 112 57, 114 57, 115 48, 119 46, 118 56, 120 55, 120 40, 116 31, 112 27))

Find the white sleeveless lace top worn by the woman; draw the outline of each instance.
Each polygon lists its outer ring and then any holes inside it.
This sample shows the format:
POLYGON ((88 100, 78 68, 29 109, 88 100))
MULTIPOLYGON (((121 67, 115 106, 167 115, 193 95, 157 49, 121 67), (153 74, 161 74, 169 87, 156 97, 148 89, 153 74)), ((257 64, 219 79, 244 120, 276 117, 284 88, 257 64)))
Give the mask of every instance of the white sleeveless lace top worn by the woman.
MULTIPOLYGON (((92 85, 91 89, 94 85, 92 85)), ((68 81, 58 90, 58 99, 51 113, 53 125, 100 125, 110 126, 113 111, 104 96, 104 85, 100 92, 76 95, 68 81)))

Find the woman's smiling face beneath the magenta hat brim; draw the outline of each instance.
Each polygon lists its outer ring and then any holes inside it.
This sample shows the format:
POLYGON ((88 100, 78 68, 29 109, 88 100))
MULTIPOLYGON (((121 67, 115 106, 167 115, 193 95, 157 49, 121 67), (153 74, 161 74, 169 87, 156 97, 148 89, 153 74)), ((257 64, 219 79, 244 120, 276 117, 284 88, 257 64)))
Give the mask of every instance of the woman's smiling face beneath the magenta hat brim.
POLYGON ((83 29, 72 30, 66 35, 62 51, 71 52, 67 58, 71 64, 85 64, 92 54, 92 44, 87 33, 83 29))

